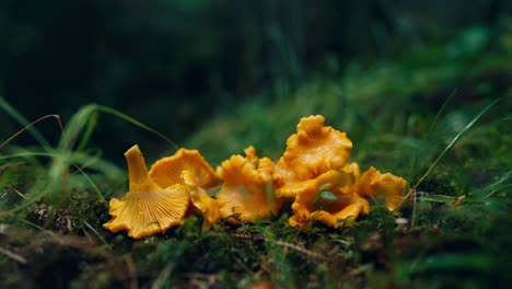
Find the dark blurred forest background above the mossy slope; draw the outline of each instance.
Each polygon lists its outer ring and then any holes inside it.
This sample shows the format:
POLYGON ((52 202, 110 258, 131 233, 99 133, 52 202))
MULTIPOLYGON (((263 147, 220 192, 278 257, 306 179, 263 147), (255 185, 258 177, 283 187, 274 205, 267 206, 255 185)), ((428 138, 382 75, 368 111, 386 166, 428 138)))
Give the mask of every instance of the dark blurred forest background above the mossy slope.
MULTIPOLYGON (((112 106, 179 144, 277 81, 339 76, 351 59, 396 57, 511 12, 504 0, 2 0, 0 95, 31 120, 112 106)), ((0 122, 0 139, 20 129, 0 122)), ((104 115, 92 141, 119 159, 132 142, 168 146, 104 115)))

